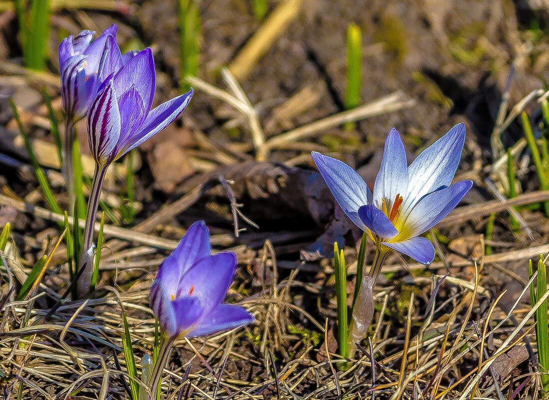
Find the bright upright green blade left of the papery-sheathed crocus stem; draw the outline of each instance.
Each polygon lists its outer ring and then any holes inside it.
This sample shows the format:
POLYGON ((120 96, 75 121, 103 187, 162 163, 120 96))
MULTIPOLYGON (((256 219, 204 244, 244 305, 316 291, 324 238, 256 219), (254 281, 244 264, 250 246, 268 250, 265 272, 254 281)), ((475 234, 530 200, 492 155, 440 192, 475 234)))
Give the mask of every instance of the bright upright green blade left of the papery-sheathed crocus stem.
MULTIPOLYGON (((343 358, 349 357, 348 315, 347 315, 347 268, 343 250, 334 243, 335 300, 338 316, 338 352, 343 358)), ((340 365, 340 364, 338 364, 340 365)), ((345 367, 341 364, 341 367, 345 367)))

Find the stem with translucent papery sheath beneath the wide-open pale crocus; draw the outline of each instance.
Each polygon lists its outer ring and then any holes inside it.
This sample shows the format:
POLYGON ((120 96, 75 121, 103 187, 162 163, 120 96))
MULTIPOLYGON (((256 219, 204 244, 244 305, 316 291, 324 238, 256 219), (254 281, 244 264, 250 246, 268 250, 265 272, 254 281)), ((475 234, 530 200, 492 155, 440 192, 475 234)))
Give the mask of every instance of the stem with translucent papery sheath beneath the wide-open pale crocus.
POLYGON ((354 357, 356 343, 360 342, 366 336, 372 322, 372 317, 374 316, 373 288, 376 285, 379 272, 388 252, 388 248, 378 247, 370 273, 362 277, 360 290, 358 290, 355 307, 352 311, 351 325, 349 326, 349 357, 354 357))

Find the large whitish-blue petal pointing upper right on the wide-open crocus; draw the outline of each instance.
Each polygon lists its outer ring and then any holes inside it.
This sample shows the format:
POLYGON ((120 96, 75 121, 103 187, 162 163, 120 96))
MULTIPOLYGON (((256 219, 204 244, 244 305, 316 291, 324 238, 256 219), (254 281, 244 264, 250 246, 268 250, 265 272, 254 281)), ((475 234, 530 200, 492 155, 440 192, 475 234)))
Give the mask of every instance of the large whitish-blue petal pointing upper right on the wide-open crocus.
POLYGON ((465 142, 465 124, 458 123, 436 140, 408 167, 408 196, 402 204, 402 216, 426 194, 449 186, 460 164, 465 142))

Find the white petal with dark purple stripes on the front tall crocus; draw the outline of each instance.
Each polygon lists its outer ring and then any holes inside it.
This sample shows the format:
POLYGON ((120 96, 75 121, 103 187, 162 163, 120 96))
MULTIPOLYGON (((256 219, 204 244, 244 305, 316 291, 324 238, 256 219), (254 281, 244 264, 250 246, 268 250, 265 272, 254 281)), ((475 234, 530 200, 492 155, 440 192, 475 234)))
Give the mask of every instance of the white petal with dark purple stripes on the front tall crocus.
POLYGON ((113 80, 93 100, 88 112, 88 143, 94 159, 100 165, 114 159, 120 138, 120 111, 113 80))

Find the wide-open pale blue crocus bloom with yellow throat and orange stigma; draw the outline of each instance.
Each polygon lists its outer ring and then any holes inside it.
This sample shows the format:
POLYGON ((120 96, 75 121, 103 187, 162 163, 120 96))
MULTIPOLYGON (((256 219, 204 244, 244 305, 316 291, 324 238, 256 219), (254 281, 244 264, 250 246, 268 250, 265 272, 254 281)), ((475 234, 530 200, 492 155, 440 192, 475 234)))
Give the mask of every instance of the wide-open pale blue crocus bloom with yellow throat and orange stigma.
POLYGON ((344 162, 316 152, 312 157, 341 209, 378 250, 394 249, 429 264, 435 257, 433 244, 418 235, 446 217, 473 185, 451 184, 464 141, 465 125, 458 123, 408 166, 400 135, 391 129, 373 193, 344 162))

